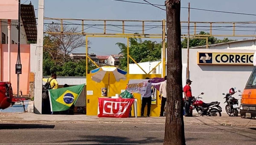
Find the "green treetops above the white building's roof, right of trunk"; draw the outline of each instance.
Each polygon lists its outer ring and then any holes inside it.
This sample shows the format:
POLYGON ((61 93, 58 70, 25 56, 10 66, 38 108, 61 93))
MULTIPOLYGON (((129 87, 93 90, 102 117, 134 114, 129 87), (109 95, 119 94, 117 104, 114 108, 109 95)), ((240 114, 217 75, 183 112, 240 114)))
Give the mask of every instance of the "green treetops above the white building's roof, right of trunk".
MULTIPOLYGON (((209 33, 201 31, 198 33, 198 35, 209 35, 209 33)), ((200 37, 207 38, 207 36, 200 36, 200 37)), ((229 39, 229 38, 217 39, 215 37, 208 37, 208 45, 225 43, 225 42, 230 42, 230 41, 236 41, 236 40, 229 39)), ((187 45, 188 45, 187 42, 188 42, 187 38, 185 38, 185 39, 183 39, 183 41, 181 41, 182 48, 187 48, 187 45)), ((206 39, 197 39, 197 38, 189 39, 189 47, 204 46, 204 45, 206 45, 206 39)))

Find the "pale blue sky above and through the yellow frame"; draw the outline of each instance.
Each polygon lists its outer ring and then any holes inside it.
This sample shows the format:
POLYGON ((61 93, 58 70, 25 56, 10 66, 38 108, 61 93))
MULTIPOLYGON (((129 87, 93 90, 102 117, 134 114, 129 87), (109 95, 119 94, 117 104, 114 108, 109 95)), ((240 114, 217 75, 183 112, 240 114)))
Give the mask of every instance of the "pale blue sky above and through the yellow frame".
MULTIPOLYGON (((134 2, 145 3, 143 0, 127 0, 134 2)), ((163 5, 165 0, 148 0, 150 3, 163 5)), ((31 0, 32 5, 34 5, 36 17, 38 17, 38 0, 31 0)), ((188 2, 190 2, 191 8, 198 9, 209 9, 217 11, 227 11, 227 12, 238 12, 247 14, 256 14, 255 6, 256 0, 181 0, 181 7, 188 7, 188 2)), ((29 4, 30 0, 21 0, 21 3, 29 4)), ((113 0, 44 0, 44 16, 45 17, 58 17, 58 18, 77 18, 77 19, 112 19, 112 20, 163 20, 166 19, 166 12, 159 8, 151 5, 136 4, 136 3, 125 3, 113 0)), ((165 9, 165 7, 161 7, 165 9)), ((181 9, 180 15, 181 21, 188 20, 188 9, 181 9)), ((45 20, 44 23, 51 23, 53 20, 45 20)), ((256 16, 251 15, 241 15, 241 14, 227 14, 219 12, 206 12, 199 10, 190 10, 190 21, 256 21, 256 16)), ((71 23, 81 23, 79 21, 69 21, 71 23)), ((86 22, 90 27, 85 31, 88 33, 102 33, 103 26, 98 24, 103 24, 99 22, 86 22)), ((112 25, 122 25, 122 22, 107 22, 107 24, 112 25)), ((160 23, 146 23, 148 29, 161 25, 160 23), (150 26, 151 25, 151 26, 150 26)), ((141 25, 140 23, 127 23, 125 25, 141 25)), ((198 25, 199 26, 199 25, 198 25)), ((205 25, 204 25, 205 26, 205 25)), ((219 26, 219 25, 218 25, 219 26)), ((224 26, 224 25, 222 25, 224 26)), ((225 25, 227 26, 227 25, 225 25)), ((230 26, 230 25, 228 25, 230 26)), ((247 25, 256 27, 254 25, 247 25)), ((122 27, 122 26, 121 26, 122 27)), ((85 27, 87 28, 87 27, 85 27)), ((80 28, 79 28, 80 29, 80 28)), ((107 33, 120 33, 114 31, 122 31, 122 29, 116 26, 107 26, 107 33)), ((141 27, 125 27, 129 33, 134 33, 135 31, 141 31, 141 27)), ((147 29, 147 28, 145 28, 147 29)), ((201 28, 202 29, 202 28, 201 28)), ((209 28, 206 28, 209 29, 209 28)), ((227 29, 227 28, 224 28, 227 29)), ((227 31, 217 31, 216 34, 232 34, 230 31, 232 28, 227 29, 227 31)), ((245 29, 245 28, 238 28, 245 29)), ((246 28, 249 30, 249 28, 246 28)), ((238 31, 237 34, 251 34, 255 32, 255 28, 250 28, 250 32, 238 31)), ((187 32, 187 28, 182 29, 183 33, 187 32)), ((190 30, 193 32, 193 29, 190 30)), ((154 28, 145 31, 145 33, 157 33, 161 34, 161 28, 154 28)), ((242 39, 242 38, 233 38, 242 39)), ((89 53, 95 53, 96 55, 111 55, 118 54, 119 48, 116 43, 127 42, 125 38, 90 38, 89 39, 90 49, 89 53)), ((160 39, 148 39, 152 41, 160 42, 160 39)), ((85 53, 85 48, 79 48, 76 53, 85 53)))

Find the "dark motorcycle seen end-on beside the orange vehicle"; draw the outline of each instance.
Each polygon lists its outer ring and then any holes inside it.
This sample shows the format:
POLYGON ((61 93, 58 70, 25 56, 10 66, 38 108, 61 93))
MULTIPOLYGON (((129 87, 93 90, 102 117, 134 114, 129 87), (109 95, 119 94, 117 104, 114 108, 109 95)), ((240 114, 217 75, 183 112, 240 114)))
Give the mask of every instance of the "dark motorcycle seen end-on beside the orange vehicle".
POLYGON ((224 102, 224 103, 227 103, 225 109, 229 116, 238 116, 238 113, 239 113, 238 99, 232 96, 236 93, 235 90, 236 90, 236 87, 230 88, 230 91, 227 94, 222 93, 222 95, 225 95, 223 99, 226 99, 226 101, 224 102))

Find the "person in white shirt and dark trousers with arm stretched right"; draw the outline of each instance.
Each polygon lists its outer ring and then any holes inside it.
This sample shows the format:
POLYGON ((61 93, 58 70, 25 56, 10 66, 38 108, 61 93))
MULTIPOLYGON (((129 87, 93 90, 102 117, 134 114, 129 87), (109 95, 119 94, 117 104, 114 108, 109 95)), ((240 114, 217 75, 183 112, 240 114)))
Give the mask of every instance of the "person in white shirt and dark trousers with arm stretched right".
MULTIPOLYGON (((150 79, 150 78, 145 78, 145 79, 150 79)), ((152 97, 151 97, 151 87, 152 86, 157 86, 160 83, 151 83, 150 80, 148 80, 147 82, 147 89, 145 94, 142 95, 142 106, 141 106, 141 116, 144 116, 144 110, 147 104, 147 117, 150 116, 150 109, 151 109, 151 101, 152 101, 152 97)))

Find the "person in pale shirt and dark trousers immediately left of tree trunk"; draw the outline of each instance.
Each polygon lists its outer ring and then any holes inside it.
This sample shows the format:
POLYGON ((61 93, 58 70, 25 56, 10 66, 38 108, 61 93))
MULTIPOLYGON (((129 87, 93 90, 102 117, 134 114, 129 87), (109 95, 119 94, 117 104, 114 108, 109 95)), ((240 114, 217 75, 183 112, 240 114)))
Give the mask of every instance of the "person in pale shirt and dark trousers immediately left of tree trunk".
POLYGON ((167 76, 164 77, 164 81, 161 82, 160 88, 159 88, 159 99, 161 100, 161 111, 160 111, 160 117, 163 117, 164 107, 166 105, 166 79, 167 76))

